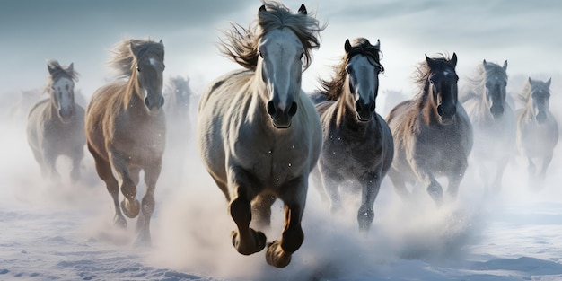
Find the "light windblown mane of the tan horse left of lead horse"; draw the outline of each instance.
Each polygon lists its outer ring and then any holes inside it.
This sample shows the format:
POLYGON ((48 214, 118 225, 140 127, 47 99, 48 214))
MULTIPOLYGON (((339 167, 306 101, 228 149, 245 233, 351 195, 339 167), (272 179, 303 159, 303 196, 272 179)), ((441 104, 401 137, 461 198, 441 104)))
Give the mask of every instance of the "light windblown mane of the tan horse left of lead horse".
POLYGON ((145 55, 155 55, 162 61, 164 60, 164 49, 160 42, 151 39, 125 39, 119 41, 111 50, 113 56, 110 58, 108 65, 117 71, 118 78, 127 78, 133 73, 133 67, 136 66, 136 59, 145 55), (137 53, 131 50, 133 44, 137 53))

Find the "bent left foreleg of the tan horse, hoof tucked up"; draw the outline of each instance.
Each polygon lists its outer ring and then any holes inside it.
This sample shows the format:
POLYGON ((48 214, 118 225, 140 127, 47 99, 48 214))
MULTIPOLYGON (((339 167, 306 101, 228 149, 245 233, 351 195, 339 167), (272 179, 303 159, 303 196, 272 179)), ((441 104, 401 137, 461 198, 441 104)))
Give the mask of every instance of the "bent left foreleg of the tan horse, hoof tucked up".
POLYGON ((140 203, 136 199, 136 184, 138 183, 138 171, 131 173, 128 170, 127 160, 125 156, 117 153, 110 153, 111 165, 119 177, 119 188, 125 197, 121 201, 121 209, 123 214, 129 218, 135 218, 140 211, 140 203), (131 175, 136 176, 136 180, 131 175))

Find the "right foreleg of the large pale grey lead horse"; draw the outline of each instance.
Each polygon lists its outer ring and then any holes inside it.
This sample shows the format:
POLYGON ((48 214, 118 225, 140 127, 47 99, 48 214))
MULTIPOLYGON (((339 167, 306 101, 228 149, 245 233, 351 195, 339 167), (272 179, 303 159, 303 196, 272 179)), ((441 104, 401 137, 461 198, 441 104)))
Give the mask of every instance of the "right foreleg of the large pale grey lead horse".
POLYGON ((285 202, 285 226, 281 233, 281 240, 268 244, 266 260, 271 266, 285 268, 291 262, 293 253, 303 244, 304 233, 301 220, 307 189, 307 178, 292 180, 280 189, 285 191, 279 196, 285 202))

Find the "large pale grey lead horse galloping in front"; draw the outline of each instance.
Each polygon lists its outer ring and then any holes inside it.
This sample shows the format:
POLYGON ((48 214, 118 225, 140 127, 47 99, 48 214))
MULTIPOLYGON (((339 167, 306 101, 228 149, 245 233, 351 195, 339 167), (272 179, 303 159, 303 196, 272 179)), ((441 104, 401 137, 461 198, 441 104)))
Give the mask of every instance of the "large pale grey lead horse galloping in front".
POLYGON ((219 44, 245 69, 211 82, 198 103, 198 151, 228 201, 234 248, 243 255, 264 249, 266 235, 250 227, 252 216, 267 227, 275 200, 285 204, 281 239, 266 252, 277 268, 303 243, 308 177, 321 153, 320 118, 301 80, 323 29, 303 4, 293 13, 265 1, 255 25, 233 24, 219 44))

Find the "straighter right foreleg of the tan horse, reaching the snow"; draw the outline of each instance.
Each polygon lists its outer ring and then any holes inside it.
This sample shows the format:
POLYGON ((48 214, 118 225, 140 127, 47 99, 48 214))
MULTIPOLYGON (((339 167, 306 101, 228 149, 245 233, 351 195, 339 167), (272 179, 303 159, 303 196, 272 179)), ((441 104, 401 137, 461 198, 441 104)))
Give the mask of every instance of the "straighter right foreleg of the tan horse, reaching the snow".
POLYGON ((146 192, 141 204, 140 215, 136 220, 136 244, 150 246, 150 219, 154 213, 154 189, 156 181, 162 171, 162 162, 156 162, 150 168, 145 169, 146 192))

